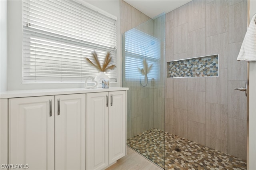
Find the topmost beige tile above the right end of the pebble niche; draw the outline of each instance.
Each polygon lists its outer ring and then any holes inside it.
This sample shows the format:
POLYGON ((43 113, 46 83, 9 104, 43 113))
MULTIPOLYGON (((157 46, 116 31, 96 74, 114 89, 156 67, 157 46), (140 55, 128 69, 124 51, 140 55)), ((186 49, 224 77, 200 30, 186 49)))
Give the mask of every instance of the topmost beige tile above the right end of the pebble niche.
POLYGON ((206 36, 228 31, 228 1, 215 0, 206 4, 206 36))

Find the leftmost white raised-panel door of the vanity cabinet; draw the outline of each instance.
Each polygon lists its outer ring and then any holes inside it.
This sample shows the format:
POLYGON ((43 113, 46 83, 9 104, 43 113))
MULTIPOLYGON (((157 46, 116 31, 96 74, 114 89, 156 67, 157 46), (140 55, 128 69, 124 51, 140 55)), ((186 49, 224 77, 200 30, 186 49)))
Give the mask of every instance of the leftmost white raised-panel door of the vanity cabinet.
POLYGON ((9 161, 33 170, 54 169, 53 96, 9 99, 9 161))

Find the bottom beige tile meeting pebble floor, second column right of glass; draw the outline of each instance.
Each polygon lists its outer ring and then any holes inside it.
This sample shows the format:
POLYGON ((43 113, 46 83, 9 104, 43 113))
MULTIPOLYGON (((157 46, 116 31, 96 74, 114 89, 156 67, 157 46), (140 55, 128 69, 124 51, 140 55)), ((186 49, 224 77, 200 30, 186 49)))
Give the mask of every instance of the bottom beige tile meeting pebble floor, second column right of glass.
POLYGON ((188 111, 174 108, 173 133, 188 138, 188 111))

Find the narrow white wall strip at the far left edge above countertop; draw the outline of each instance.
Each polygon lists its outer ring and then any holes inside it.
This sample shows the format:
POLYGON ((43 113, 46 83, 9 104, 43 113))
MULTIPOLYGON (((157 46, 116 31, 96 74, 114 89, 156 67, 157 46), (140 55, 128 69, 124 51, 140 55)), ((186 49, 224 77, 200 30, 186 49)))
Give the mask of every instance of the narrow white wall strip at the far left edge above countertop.
POLYGON ((7 0, 0 0, 0 91, 7 90, 7 0))

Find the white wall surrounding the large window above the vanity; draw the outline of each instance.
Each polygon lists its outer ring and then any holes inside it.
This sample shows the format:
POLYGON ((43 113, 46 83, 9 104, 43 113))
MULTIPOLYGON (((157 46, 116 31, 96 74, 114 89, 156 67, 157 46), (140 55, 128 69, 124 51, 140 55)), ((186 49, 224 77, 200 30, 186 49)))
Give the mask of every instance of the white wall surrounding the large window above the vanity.
MULTIPOLYGON (((101 10, 104 10, 118 19, 117 25, 117 69, 118 83, 112 83, 111 86, 121 85, 121 59, 120 59, 120 21, 119 21, 119 1, 118 0, 89 0, 86 1, 101 10)), ((20 89, 55 89, 55 88, 76 88, 84 87, 83 83, 72 84, 22 84, 22 1, 8 1, 8 90, 20 89)), ((2 75, 1 75, 2 76, 2 75)))

